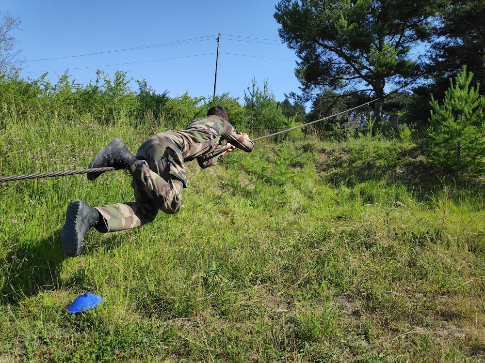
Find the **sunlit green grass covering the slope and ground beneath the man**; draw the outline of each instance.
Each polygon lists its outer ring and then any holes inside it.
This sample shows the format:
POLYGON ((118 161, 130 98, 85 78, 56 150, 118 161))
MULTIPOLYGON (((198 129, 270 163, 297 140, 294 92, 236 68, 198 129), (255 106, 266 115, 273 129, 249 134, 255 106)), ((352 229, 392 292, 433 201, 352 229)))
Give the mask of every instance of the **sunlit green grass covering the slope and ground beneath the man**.
MULTIPOLYGON (((121 120, 4 116, 0 174, 84 168, 121 120)), ((159 130, 157 130, 159 131, 159 130)), ((160 130, 162 131, 162 130, 160 130)), ((257 135, 259 136, 259 135, 257 135)), ((478 362, 485 358, 485 197, 397 141, 301 134, 201 170, 184 207, 89 232, 67 258, 67 204, 133 199, 105 173, 0 186, 0 361, 478 362), (96 309, 65 307, 91 291, 96 309)))

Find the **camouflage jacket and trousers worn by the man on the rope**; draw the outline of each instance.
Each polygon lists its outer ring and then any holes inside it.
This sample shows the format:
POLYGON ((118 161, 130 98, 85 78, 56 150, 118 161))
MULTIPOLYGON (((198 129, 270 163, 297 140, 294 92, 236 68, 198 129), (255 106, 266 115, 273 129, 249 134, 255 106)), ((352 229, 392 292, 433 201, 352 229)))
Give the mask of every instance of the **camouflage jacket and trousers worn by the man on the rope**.
POLYGON ((244 151, 252 151, 247 140, 229 122, 217 116, 194 120, 182 131, 166 131, 150 137, 136 152, 129 171, 135 202, 97 207, 104 219, 96 228, 113 232, 142 226, 153 221, 159 210, 173 214, 182 203, 182 188, 187 187, 185 162, 197 159, 199 166, 214 165, 221 155, 210 158, 226 140, 244 151), (209 156, 205 161, 202 157, 209 156))

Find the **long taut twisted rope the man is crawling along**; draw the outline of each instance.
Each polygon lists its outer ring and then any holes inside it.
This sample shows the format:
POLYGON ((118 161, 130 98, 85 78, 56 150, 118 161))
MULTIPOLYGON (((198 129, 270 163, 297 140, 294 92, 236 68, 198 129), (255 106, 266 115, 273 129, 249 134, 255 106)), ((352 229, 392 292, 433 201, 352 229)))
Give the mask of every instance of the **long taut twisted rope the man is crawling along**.
MULTIPOLYGON (((360 108, 360 107, 363 107, 363 106, 367 106, 367 105, 371 104, 372 102, 374 102, 376 100, 377 99, 373 99, 372 101, 366 102, 365 104, 362 104, 362 105, 359 105, 359 106, 356 106, 356 107, 353 107, 353 108, 349 108, 349 109, 347 109, 345 111, 341 111, 341 112, 336 113, 334 115, 324 117, 323 119, 319 119, 319 120, 311 121, 311 122, 308 122, 308 123, 304 123, 302 125, 294 126, 294 127, 291 127, 291 128, 289 128, 287 130, 278 131, 278 132, 275 132, 273 134, 269 134, 269 135, 265 135, 265 136, 260 136, 260 137, 257 137, 255 139, 252 139, 252 141, 253 142, 256 142, 256 141, 259 141, 259 140, 262 140, 262 139, 265 139, 265 138, 268 138, 268 137, 273 137, 273 136, 276 136, 276 135, 280 135, 280 134, 284 134, 284 133, 290 132, 292 130, 299 129, 299 128, 302 128, 302 127, 311 125, 313 123, 317 123, 317 122, 320 122, 320 121, 323 121, 323 120, 327 120, 327 119, 330 119, 332 117, 336 117, 336 116, 342 115, 342 114, 344 114, 346 112, 353 111, 353 110, 355 110, 357 108, 360 108)), ((217 153, 212 154, 211 157, 214 157, 214 156, 217 156, 219 154, 222 154, 223 152, 225 152, 228 149, 229 148, 221 148, 221 149, 219 149, 217 151, 217 153)), ((61 177, 61 176, 65 176, 65 175, 87 174, 87 173, 104 172, 104 171, 112 171, 112 170, 120 170, 120 169, 119 168, 115 168, 115 167, 109 167, 109 166, 107 166, 107 167, 95 167, 95 168, 89 168, 89 169, 66 170, 66 171, 52 171, 52 172, 47 172, 47 173, 0 176, 0 182, 5 182, 5 181, 18 181, 18 180, 26 180, 26 179, 38 179, 38 178, 61 177)))

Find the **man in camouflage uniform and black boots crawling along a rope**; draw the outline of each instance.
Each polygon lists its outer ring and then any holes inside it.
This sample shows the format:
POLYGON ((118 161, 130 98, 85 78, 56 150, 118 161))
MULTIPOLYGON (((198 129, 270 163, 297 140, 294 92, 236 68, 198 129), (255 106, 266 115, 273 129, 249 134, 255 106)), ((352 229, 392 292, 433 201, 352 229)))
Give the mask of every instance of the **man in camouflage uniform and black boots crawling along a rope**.
MULTIPOLYGON (((149 223, 159 210, 177 213, 182 188, 187 187, 185 162, 197 159, 199 166, 206 168, 235 148, 253 151, 254 143, 237 131, 228 118, 223 107, 212 107, 207 117, 194 120, 182 131, 166 131, 150 137, 136 156, 119 138, 111 141, 97 153, 89 167, 126 167, 133 176, 131 187, 135 201, 96 208, 81 200, 71 202, 61 233, 64 252, 71 257, 78 256, 90 227, 103 233, 114 232, 149 223), (221 144, 223 140, 227 141, 226 145, 221 144)), ((100 174, 90 173, 88 179, 95 180, 100 174)))

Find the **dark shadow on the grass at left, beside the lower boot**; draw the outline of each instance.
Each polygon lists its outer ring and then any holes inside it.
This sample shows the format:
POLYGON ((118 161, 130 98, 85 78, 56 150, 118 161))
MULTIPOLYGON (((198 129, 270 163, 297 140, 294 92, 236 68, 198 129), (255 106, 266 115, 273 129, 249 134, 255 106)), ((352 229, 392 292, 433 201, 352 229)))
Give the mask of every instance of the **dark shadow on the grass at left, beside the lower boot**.
POLYGON ((64 285, 59 270, 67 256, 60 238, 61 228, 41 240, 12 241, 18 247, 7 256, 1 302, 16 303, 40 291, 57 290, 64 285))

